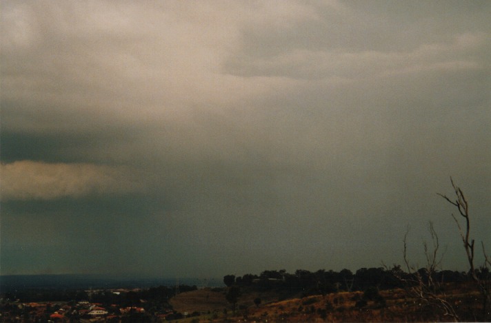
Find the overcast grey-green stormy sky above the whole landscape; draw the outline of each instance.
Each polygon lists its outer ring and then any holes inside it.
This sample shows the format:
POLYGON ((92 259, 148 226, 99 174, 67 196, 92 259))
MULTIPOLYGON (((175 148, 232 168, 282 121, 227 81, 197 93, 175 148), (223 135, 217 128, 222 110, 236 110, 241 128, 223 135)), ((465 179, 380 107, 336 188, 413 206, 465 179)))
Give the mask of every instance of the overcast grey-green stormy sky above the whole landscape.
POLYGON ((2 0, 0 273, 355 271, 402 264, 408 226, 422 266, 430 220, 465 270, 436 193, 454 178, 491 250, 490 17, 2 0))

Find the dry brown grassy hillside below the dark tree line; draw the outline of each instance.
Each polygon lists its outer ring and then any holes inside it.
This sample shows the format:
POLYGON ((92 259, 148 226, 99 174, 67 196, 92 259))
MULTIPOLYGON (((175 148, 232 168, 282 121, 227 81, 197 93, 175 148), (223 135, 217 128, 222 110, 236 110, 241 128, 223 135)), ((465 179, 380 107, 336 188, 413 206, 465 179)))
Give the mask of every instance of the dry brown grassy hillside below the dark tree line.
MULTIPOLYGON (((278 300, 272 291, 247 292, 239 297, 236 313, 226 301, 226 289, 201 289, 181 293, 171 304, 181 313, 200 312, 180 322, 448 322, 449 317, 410 297, 403 289, 380 291, 378 301, 357 304, 363 292, 339 292, 304 298, 278 300), (256 306, 254 298, 261 298, 256 306), (382 300, 382 301, 381 301, 382 300), (226 309, 226 311, 224 311, 226 309)), ((457 309, 462 321, 474 321, 479 311, 479 293, 467 285, 452 285, 447 300, 457 309)))

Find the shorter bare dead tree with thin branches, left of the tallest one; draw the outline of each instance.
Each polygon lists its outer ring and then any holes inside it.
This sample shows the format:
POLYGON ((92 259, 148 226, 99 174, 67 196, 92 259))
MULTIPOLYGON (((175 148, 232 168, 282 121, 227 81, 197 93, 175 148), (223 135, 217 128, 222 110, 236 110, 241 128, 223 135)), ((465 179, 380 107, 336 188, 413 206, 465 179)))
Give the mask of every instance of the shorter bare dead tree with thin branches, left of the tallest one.
POLYGON ((439 238, 432 222, 429 223, 428 230, 430 231, 432 247, 430 248, 427 242, 423 242, 426 266, 419 270, 412 266, 408 260, 407 240, 409 229, 405 232, 403 240, 403 257, 409 275, 399 273, 400 275, 398 278, 409 287, 410 293, 414 298, 417 298, 419 302, 439 309, 444 317, 448 317, 454 322, 459 322, 459 315, 457 315, 457 312, 448 300, 447 295, 445 295, 441 282, 437 280, 437 270, 441 267, 441 260, 443 259, 444 253, 440 254, 439 238))

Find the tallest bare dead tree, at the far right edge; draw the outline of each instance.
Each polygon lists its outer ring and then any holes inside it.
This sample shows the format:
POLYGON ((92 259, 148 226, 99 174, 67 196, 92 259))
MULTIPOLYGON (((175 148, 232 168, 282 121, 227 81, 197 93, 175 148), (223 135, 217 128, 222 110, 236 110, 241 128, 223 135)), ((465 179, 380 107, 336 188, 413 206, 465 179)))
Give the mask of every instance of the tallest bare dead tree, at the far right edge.
POLYGON ((470 276, 472 280, 477 284, 479 292, 481 293, 482 298, 482 319, 483 321, 491 320, 491 286, 490 286, 490 275, 489 275, 489 267, 491 266, 490 258, 485 252, 484 243, 481 242, 481 246, 483 249, 484 262, 481 265, 481 273, 484 275, 479 275, 478 271, 474 265, 474 239, 470 236, 470 213, 469 213, 469 204, 466 200, 463 191, 455 185, 454 180, 450 178, 450 182, 452 183, 452 187, 454 189, 454 198, 452 200, 448 196, 444 194, 438 194, 439 196, 445 198, 451 205, 454 205, 459 210, 459 215, 463 218, 463 222, 465 222, 465 228, 463 229, 461 225, 461 221, 452 213, 452 218, 457 224, 457 228, 459 229, 459 234, 461 236, 463 247, 465 249, 465 253, 467 253, 467 259, 470 267, 470 276))

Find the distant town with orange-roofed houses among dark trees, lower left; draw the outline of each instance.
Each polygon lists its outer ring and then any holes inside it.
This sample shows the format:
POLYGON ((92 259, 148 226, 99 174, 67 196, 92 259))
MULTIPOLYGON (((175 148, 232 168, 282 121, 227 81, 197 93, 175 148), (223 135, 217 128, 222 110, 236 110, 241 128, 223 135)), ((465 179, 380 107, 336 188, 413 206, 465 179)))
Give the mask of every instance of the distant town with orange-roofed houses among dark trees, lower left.
MULTIPOLYGON (((1 293, 1 322, 156 322, 190 317, 168 300, 197 286, 149 289, 27 288, 1 293)), ((197 315, 197 313, 194 313, 197 315)))

